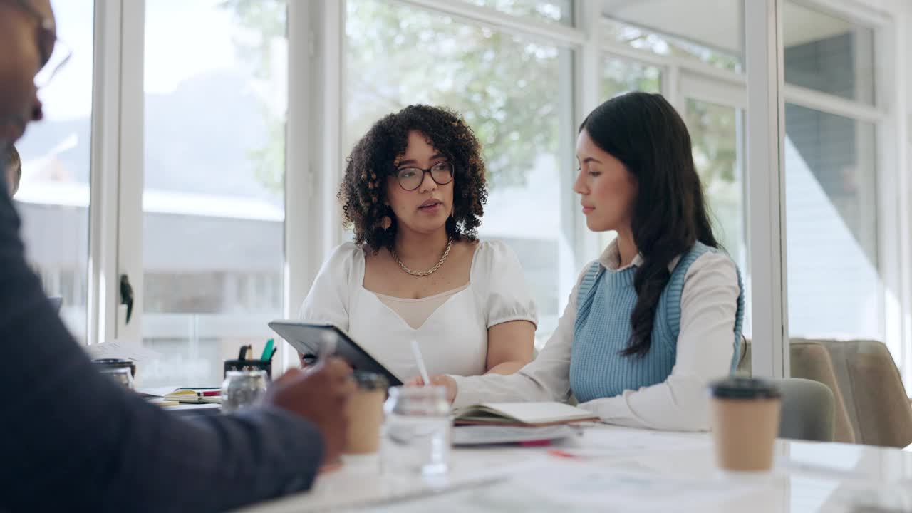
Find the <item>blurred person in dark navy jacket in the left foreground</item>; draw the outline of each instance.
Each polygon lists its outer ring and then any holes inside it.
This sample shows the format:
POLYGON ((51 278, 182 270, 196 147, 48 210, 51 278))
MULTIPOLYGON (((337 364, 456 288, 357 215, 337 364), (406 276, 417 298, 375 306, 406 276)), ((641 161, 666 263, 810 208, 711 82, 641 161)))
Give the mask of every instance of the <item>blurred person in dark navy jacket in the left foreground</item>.
MULTIPOLYGON (((0 149, 41 119, 35 77, 56 41, 48 0, 0 0, 0 149)), ((245 413, 192 420, 96 372, 26 265, 6 189, 0 511, 221 511, 306 490, 337 458, 354 390, 342 361, 286 373, 245 413)))

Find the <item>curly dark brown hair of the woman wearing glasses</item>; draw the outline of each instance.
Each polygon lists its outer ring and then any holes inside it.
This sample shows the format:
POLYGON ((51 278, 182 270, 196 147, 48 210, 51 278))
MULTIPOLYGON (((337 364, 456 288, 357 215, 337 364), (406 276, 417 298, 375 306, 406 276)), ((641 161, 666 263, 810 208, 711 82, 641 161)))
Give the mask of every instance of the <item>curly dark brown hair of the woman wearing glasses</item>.
POLYGON ((409 145, 409 131, 420 131, 435 150, 453 163, 455 189, 447 233, 453 240, 476 240, 488 200, 482 145, 456 112, 409 105, 374 123, 346 159, 338 198, 345 224, 354 227, 355 242, 367 244, 374 253, 381 247, 393 249, 397 223, 392 209, 384 204, 387 177, 396 174, 396 160, 409 145), (393 224, 384 230, 383 218, 388 215, 393 224))

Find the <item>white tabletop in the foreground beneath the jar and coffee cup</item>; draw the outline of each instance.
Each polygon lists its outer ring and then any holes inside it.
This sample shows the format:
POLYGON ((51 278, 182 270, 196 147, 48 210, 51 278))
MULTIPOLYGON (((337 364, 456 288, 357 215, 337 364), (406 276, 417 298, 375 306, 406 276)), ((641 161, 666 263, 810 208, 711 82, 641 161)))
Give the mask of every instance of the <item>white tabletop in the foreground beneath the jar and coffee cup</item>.
POLYGON ((310 492, 244 511, 912 510, 912 454, 867 445, 776 444, 771 473, 735 475, 715 466, 709 434, 593 424, 550 446, 454 449, 451 472, 442 478, 385 475, 376 457, 350 459, 319 476, 310 492))

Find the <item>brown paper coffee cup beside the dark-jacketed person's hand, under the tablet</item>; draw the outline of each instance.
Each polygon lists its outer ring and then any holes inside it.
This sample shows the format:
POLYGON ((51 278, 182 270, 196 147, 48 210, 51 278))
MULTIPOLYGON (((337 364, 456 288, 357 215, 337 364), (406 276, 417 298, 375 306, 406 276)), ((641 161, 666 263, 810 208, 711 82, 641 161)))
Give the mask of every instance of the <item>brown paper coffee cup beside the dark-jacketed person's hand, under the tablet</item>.
POLYGON ((347 403, 347 455, 369 455, 380 448, 380 425, 383 424, 383 403, 387 399, 389 382, 374 372, 353 374, 358 390, 347 403))

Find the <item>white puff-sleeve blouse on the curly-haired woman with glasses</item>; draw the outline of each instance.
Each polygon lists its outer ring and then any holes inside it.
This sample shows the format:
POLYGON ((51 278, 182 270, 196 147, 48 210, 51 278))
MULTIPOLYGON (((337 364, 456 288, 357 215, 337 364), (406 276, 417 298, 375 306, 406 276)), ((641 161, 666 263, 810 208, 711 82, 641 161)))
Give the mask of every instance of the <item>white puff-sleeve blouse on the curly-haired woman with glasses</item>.
POLYGON ((478 245, 468 287, 451 294, 417 329, 364 288, 364 258, 364 249, 354 243, 333 250, 299 317, 346 330, 403 381, 419 374, 412 339, 430 374, 475 376, 486 371, 489 328, 512 320, 537 324, 523 269, 503 242, 478 245))

